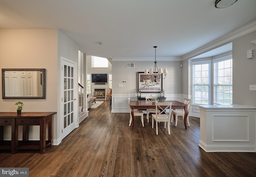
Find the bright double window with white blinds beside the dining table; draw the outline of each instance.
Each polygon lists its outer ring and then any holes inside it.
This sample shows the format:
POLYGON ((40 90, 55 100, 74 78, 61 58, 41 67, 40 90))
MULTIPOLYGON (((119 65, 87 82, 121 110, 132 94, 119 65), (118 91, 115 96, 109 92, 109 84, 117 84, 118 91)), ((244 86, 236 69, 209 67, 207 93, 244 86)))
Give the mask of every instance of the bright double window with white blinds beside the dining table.
POLYGON ((232 104, 232 58, 192 62, 192 103, 232 104))

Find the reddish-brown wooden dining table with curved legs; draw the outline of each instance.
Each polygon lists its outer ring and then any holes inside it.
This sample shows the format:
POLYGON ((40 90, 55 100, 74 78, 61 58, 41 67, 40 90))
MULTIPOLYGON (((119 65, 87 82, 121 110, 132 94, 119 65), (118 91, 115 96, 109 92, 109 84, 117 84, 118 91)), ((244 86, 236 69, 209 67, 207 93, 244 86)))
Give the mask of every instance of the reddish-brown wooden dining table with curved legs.
MULTIPOLYGON (((172 102, 172 109, 184 109, 184 125, 187 129, 187 117, 188 117, 188 105, 176 100, 160 100, 158 102, 172 102)), ((134 128, 134 110, 135 109, 156 109, 156 105, 153 101, 130 101, 130 106, 132 108, 132 129, 134 128)), ((170 111, 171 113, 171 111, 170 111)))

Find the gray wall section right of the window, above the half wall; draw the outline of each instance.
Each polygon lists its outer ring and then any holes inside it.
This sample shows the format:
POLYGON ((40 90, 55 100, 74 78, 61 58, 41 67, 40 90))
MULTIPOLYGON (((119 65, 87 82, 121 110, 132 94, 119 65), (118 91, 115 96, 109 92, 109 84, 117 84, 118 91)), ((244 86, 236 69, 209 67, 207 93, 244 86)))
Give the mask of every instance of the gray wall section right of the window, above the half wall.
MULTIPOLYGON (((256 106, 256 91, 249 85, 256 85, 256 56, 247 59, 247 50, 256 49, 250 41, 256 40, 256 31, 233 40, 233 103, 256 106)), ((255 52, 254 52, 255 53, 255 52)))

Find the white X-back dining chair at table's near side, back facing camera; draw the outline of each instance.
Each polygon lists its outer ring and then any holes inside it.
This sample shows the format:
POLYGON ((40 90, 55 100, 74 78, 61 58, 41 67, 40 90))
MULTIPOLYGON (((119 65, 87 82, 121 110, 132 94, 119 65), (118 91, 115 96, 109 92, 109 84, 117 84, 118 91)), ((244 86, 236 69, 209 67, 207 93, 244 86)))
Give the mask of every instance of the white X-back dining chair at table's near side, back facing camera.
POLYGON ((156 120, 156 134, 158 135, 158 122, 164 122, 164 128, 166 128, 166 122, 168 122, 168 134, 170 135, 170 116, 172 109, 172 102, 156 102, 155 113, 152 114, 152 128, 154 128, 154 119, 156 120), (159 110, 159 111, 158 111, 159 110))

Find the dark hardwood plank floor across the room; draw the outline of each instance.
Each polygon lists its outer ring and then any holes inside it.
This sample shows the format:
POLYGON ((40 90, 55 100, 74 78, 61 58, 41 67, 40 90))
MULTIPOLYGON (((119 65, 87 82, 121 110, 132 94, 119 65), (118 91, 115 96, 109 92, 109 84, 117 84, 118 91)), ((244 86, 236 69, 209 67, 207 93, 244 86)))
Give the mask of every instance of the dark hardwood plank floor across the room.
POLYGON ((80 126, 44 154, 0 151, 0 167, 28 167, 30 177, 255 177, 256 153, 206 153, 199 146, 200 119, 152 129, 144 115, 129 127, 129 113, 110 113, 110 100, 89 109, 80 126))

